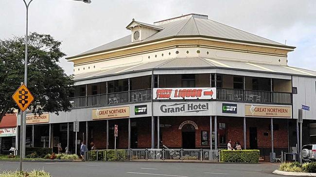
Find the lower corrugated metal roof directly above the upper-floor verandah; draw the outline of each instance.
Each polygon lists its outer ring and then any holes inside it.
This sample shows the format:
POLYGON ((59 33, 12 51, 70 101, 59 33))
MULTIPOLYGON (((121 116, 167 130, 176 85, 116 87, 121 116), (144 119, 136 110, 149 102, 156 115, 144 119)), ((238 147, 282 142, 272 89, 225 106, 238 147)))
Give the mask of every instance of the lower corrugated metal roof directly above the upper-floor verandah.
POLYGON ((150 69, 199 69, 199 68, 224 68, 235 70, 246 70, 252 72, 265 72, 272 74, 300 75, 316 77, 316 72, 283 65, 258 64, 239 61, 228 61, 208 58, 171 58, 150 63, 134 64, 112 69, 99 70, 85 74, 79 74, 74 80, 88 80, 99 77, 111 76, 113 74, 125 74, 150 69))

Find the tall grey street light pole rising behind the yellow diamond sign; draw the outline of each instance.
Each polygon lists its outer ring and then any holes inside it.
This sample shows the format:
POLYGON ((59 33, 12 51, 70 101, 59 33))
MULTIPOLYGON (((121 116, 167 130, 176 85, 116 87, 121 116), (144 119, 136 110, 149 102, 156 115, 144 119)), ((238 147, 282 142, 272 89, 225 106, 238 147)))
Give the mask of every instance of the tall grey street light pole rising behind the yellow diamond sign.
MULTIPOLYGON (((25 32, 25 60, 24 60, 24 85, 27 86, 27 63, 28 63, 28 18, 29 18, 29 6, 33 0, 30 0, 28 3, 23 0, 26 7, 26 32, 25 32)), ((83 1, 85 3, 91 3, 91 0, 76 0, 83 1)), ((26 113, 21 112, 20 120, 20 171, 22 171, 22 161, 25 157, 25 135, 26 135, 26 113)))

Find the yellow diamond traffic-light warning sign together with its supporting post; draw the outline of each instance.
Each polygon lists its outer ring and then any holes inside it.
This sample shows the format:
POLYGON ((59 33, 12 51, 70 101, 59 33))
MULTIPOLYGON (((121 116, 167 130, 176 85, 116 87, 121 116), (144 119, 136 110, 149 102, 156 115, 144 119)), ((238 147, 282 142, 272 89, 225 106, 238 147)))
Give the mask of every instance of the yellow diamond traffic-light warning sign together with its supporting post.
MULTIPOLYGON (((27 50, 27 49, 26 49, 27 50)), ((27 66, 27 64, 25 64, 27 66)), ((26 83, 25 83, 26 84, 26 83)), ((21 110, 21 125, 20 125, 20 171, 22 171, 22 161, 23 161, 23 150, 25 147, 23 147, 23 140, 24 140, 24 134, 23 134, 23 119, 26 117, 26 113, 23 114, 23 112, 31 105, 31 103, 34 101, 34 97, 31 94, 30 90, 24 85, 24 83, 21 83, 21 86, 18 87, 18 90, 13 94, 12 99, 17 103, 18 108, 21 110)))

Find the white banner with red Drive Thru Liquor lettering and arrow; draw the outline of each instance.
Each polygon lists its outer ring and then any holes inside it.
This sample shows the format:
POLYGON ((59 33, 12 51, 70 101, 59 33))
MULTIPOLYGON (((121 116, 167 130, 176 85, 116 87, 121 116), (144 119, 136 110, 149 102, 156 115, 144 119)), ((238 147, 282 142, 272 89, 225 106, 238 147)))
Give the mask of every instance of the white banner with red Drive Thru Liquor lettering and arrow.
POLYGON ((216 99, 216 88, 154 88, 154 99, 216 99))

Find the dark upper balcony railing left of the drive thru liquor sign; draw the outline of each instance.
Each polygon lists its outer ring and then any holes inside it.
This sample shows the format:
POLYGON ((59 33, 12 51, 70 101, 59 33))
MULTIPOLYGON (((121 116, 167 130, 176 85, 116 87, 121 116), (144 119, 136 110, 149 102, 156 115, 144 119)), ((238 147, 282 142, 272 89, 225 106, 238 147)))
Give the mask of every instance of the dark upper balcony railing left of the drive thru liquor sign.
POLYGON ((115 105, 130 102, 141 102, 151 100, 151 89, 132 90, 109 94, 91 95, 87 97, 72 97, 72 108, 91 106, 115 105))

